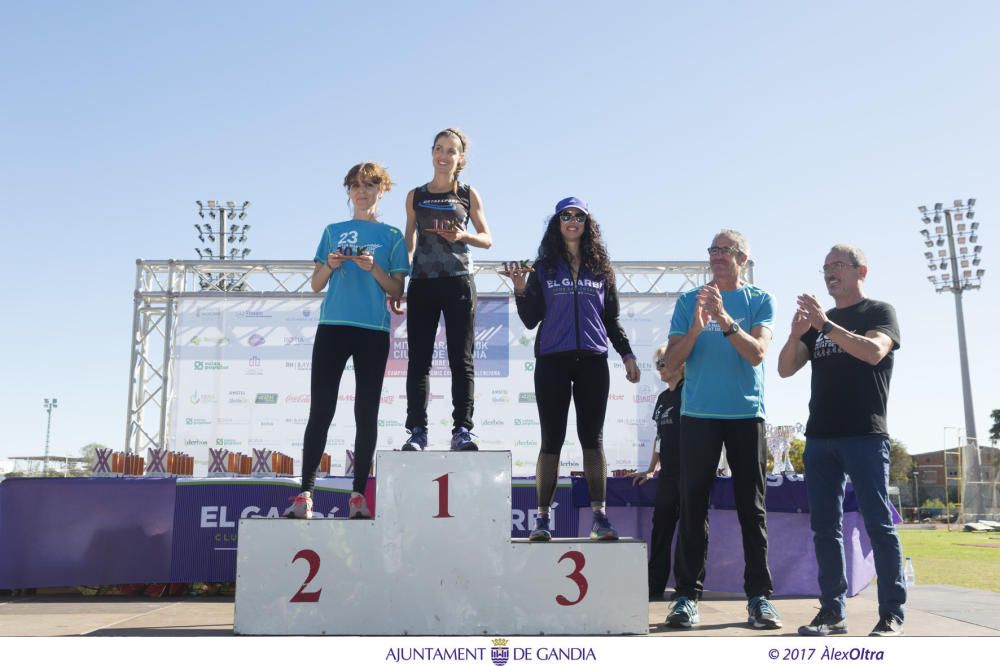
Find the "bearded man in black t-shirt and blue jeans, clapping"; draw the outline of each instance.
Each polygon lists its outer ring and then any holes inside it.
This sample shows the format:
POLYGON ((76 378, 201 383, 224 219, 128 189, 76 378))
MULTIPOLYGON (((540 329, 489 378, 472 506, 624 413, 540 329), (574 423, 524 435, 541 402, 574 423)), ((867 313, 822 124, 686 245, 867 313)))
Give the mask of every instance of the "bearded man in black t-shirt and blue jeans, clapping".
POLYGON ((802 294, 792 333, 778 358, 790 377, 812 363, 812 395, 803 456, 809 521, 819 565, 820 611, 799 627, 806 636, 847 633, 844 485, 851 477, 875 556, 879 622, 871 636, 903 633, 903 557, 889 506, 886 407, 893 352, 899 349, 896 311, 864 295, 868 262, 860 249, 835 245, 823 278, 836 307, 824 312, 802 294))

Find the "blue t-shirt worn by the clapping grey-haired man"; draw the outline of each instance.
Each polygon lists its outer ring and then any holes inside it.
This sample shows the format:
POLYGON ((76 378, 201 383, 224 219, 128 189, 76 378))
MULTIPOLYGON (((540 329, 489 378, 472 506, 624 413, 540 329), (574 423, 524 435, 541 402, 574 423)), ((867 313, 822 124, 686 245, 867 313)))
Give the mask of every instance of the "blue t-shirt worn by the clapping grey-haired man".
MULTIPOLYGON (((685 335, 691 326, 698 289, 677 299, 670 320, 670 336, 685 335)), ((771 295, 753 285, 722 291, 729 316, 744 331, 756 326, 774 328, 771 295)), ((701 419, 765 418, 764 363, 757 367, 739 355, 722 335, 718 322, 710 319, 691 349, 684 372, 681 414, 701 419)))

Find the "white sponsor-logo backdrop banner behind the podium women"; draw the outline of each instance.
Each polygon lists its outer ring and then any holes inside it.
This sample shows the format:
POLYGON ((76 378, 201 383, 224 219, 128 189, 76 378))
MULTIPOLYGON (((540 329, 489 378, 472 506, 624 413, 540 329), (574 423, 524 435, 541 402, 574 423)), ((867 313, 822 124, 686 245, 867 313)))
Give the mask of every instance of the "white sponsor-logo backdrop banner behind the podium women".
MULTIPOLYGON (((611 393, 604 427, 608 469, 645 467, 652 452, 653 406, 663 383, 653 351, 666 342, 672 295, 622 295, 625 327, 642 380, 625 379, 612 350, 611 393)), ((309 416, 312 344, 321 298, 178 302, 173 346, 170 446, 206 463, 208 448, 250 453, 268 448, 302 459, 302 435, 309 416)), ((479 447, 512 452, 515 476, 535 473, 540 446, 534 392, 534 331, 517 316, 512 297, 481 296, 476 314, 476 411, 479 447)), ((389 362, 379 410, 379 449, 406 441, 406 319, 393 316, 389 362)), ((431 376, 428 422, 431 448, 451 437, 451 386, 443 323, 438 328, 431 376)), ((354 374, 347 365, 337 413, 327 441, 331 474, 346 472, 354 446, 354 374)), ((570 409, 560 474, 582 468, 576 417, 570 409)), ((297 468, 296 468, 297 469, 297 468)))

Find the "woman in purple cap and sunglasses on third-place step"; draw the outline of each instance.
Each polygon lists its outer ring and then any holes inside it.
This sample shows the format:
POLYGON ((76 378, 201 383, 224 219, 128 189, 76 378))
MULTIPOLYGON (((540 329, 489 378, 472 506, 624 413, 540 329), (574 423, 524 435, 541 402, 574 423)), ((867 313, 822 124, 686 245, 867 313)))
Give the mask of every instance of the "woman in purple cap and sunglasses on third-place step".
POLYGON ((557 203, 534 267, 509 265, 504 275, 514 283, 517 314, 524 325, 532 329, 541 324, 535 337, 535 399, 542 448, 535 470, 538 519, 531 540, 552 538, 550 507, 559 480, 570 398, 576 407, 583 473, 594 510, 590 538, 617 539, 605 511, 608 340, 621 355, 625 376, 632 383, 639 381, 639 366, 618 323, 614 269, 587 204, 576 197, 557 203))

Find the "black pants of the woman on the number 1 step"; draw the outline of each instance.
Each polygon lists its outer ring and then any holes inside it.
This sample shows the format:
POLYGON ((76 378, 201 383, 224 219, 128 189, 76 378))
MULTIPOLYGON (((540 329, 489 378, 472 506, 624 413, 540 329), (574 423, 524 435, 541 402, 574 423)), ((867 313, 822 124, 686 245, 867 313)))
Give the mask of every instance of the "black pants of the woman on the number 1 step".
POLYGON ((406 428, 427 428, 431 362, 438 322, 444 314, 454 427, 472 430, 475 370, 476 284, 469 275, 410 280, 406 291, 406 428))

